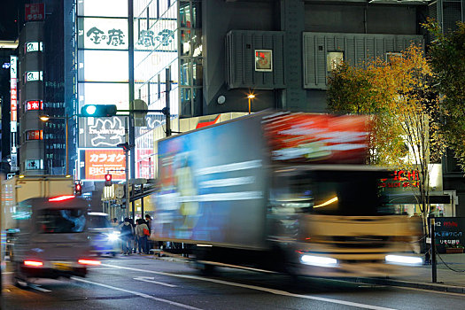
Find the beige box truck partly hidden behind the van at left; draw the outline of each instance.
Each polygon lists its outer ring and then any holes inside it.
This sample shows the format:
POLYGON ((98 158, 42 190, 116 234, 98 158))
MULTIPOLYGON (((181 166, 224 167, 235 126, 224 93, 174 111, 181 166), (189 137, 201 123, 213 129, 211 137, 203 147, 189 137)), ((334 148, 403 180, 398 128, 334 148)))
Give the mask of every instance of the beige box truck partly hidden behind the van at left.
POLYGON ((16 206, 28 198, 50 198, 60 195, 74 195, 74 180, 65 175, 14 175, 2 180, 2 260, 11 251, 12 241, 17 232, 18 216, 16 206))

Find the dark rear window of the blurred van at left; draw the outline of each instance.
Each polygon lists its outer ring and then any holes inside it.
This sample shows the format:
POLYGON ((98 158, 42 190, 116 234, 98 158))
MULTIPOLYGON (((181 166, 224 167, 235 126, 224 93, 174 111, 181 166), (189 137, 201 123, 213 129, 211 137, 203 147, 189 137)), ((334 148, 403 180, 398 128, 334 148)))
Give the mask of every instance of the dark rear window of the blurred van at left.
POLYGON ((80 233, 86 226, 81 209, 43 209, 36 217, 37 230, 43 234, 80 233))

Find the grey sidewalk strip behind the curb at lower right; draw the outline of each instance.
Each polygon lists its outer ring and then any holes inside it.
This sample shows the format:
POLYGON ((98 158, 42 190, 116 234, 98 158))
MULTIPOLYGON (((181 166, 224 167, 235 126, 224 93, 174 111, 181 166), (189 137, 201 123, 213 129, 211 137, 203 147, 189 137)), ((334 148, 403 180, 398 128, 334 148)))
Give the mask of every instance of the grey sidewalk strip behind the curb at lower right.
POLYGON ((393 286, 413 287, 433 291, 449 291, 465 294, 465 253, 438 254, 438 282, 432 283, 431 265, 415 267, 412 275, 386 279, 359 278, 360 283, 376 283, 393 286), (443 263, 444 260, 445 263, 443 263), (456 272, 448 267, 452 268, 456 272))

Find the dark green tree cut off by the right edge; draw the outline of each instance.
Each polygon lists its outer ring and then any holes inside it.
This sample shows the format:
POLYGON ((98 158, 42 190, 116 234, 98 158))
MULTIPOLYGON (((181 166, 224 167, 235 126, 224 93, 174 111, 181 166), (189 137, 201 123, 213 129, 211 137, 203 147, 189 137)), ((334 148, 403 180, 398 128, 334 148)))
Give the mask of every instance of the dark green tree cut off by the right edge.
POLYGON ((462 171, 465 171, 465 24, 444 34, 438 22, 429 19, 423 25, 433 36, 430 44, 430 66, 436 73, 438 91, 443 95, 444 114, 442 129, 448 146, 453 150, 462 171))

